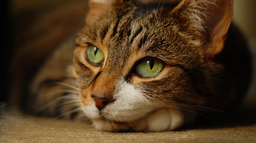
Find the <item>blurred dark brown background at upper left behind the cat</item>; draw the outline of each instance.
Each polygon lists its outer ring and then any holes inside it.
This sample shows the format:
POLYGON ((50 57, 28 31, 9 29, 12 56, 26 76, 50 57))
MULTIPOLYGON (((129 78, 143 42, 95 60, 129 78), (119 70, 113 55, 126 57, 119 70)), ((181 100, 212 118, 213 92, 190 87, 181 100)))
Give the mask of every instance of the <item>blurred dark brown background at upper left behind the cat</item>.
POLYGON ((88 2, 12 0, 2 1, 1 10, 0 101, 13 102, 19 100, 28 76, 61 40, 84 23, 88 2))

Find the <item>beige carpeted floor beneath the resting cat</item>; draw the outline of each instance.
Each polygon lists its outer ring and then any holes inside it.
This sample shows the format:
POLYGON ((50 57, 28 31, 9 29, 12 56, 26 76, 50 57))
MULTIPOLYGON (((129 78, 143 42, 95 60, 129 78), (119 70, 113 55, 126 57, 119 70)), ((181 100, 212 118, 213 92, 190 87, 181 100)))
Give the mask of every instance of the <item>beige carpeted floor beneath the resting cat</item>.
MULTIPOLYGON (((250 110, 249 110, 250 109, 250 110)), ((1 103, 0 142, 256 142, 256 108, 224 119, 201 119, 171 132, 115 133, 84 123, 36 118, 11 112, 1 103)))

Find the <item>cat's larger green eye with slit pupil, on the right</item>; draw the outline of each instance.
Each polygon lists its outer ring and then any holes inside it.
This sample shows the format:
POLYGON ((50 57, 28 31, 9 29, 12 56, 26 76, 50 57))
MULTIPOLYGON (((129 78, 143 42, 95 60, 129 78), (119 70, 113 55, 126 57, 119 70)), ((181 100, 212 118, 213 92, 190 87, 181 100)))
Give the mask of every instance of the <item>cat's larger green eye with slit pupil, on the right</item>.
POLYGON ((164 64, 159 59, 147 57, 139 62, 136 72, 142 77, 154 77, 162 71, 163 67, 164 64))

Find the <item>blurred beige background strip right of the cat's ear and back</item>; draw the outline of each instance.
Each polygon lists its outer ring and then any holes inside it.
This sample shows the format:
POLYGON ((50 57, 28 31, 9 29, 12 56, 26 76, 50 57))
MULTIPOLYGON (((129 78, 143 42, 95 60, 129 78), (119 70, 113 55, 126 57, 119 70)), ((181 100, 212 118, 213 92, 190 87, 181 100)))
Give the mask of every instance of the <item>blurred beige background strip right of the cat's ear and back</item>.
POLYGON ((253 106, 256 103, 256 1, 234 0, 234 23, 245 35, 251 49, 254 61, 254 74, 252 83, 245 99, 245 104, 253 106))

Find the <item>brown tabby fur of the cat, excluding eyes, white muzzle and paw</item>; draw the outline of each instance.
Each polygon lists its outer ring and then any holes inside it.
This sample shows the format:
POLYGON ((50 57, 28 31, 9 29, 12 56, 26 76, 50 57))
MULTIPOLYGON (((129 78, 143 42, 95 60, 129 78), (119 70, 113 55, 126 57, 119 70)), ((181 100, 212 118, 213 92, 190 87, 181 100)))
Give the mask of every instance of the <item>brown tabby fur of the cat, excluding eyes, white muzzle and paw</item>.
MULTIPOLYGON (((92 10, 76 47, 70 38, 52 54, 28 88, 23 98, 24 109, 34 114, 76 119, 84 115, 78 110, 81 105, 86 107, 95 102, 92 95, 114 100, 119 90, 117 84, 124 80, 143 91, 152 102, 159 101, 164 106, 196 112, 203 107, 233 110, 250 81, 251 60, 245 40, 233 24, 226 24, 220 36, 214 37, 214 27, 207 16, 215 23, 212 18, 218 14, 205 15, 216 3, 203 1, 206 4, 201 3, 198 9, 201 19, 196 19, 191 15, 193 11, 189 11, 193 2, 160 3, 159 7, 158 3, 143 1, 120 0, 111 6, 91 2, 92 10), (102 66, 86 61, 84 53, 89 44, 104 53, 102 66), (164 62, 158 76, 144 78, 135 73, 134 67, 144 57, 164 62), (54 81, 72 86, 56 85, 54 81), (78 91, 73 91, 74 88, 78 91), (56 92, 59 89, 61 92, 56 92), (56 93, 49 93, 52 91, 56 93), (66 95, 75 92, 79 98, 70 104, 66 95)), ((220 3, 220 10, 224 6, 232 11, 232 1, 220 3)), ((230 21, 232 13, 224 13, 224 21, 230 21)), ((86 116, 78 119, 89 122, 86 116)), ((122 130, 128 126, 113 128, 122 130)))

